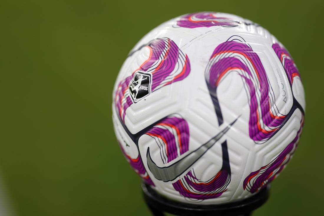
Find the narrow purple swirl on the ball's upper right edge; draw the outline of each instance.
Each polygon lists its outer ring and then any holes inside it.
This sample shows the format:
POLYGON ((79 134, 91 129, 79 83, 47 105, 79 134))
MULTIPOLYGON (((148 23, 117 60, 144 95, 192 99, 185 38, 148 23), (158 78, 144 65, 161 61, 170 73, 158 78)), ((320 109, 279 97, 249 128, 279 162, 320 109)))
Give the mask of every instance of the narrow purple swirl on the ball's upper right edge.
POLYGON ((300 74, 293 58, 288 51, 278 43, 272 44, 272 49, 277 54, 281 64, 284 66, 290 86, 292 86, 294 77, 298 77, 300 79, 300 74))

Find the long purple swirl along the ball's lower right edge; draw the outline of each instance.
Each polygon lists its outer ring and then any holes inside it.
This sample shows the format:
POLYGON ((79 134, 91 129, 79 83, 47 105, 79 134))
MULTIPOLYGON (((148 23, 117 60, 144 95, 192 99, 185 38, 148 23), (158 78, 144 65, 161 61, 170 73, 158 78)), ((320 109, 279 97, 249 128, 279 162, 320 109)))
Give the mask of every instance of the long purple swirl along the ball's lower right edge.
POLYGON ((302 115, 300 129, 293 141, 289 143, 288 146, 274 160, 272 160, 272 162, 249 174, 243 182, 244 190, 248 190, 250 193, 259 191, 275 179, 276 176, 286 167, 298 146, 303 125, 304 117, 302 115))

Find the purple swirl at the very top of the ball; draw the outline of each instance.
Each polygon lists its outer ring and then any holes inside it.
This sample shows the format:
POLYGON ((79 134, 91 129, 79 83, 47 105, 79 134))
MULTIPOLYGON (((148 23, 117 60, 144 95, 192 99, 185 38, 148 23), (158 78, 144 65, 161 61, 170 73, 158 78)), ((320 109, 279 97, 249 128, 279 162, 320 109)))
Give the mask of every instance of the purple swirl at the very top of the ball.
POLYGON ((219 17, 217 13, 200 12, 180 17, 180 20, 177 21, 177 25, 179 27, 193 29, 211 26, 234 27, 239 25, 239 22, 231 18, 219 17))

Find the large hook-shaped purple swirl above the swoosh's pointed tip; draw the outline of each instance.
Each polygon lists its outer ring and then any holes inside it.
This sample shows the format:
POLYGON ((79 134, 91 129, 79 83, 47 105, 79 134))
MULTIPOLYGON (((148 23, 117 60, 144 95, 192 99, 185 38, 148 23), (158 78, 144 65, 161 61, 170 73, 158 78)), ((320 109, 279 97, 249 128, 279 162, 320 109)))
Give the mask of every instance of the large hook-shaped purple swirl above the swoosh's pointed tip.
POLYGON ((239 36, 232 36, 218 45, 209 60, 205 79, 212 98, 217 99, 217 86, 231 72, 237 73, 245 82, 250 104, 249 136, 258 144, 264 143, 278 132, 287 118, 279 113, 275 105, 275 97, 258 54, 239 36))

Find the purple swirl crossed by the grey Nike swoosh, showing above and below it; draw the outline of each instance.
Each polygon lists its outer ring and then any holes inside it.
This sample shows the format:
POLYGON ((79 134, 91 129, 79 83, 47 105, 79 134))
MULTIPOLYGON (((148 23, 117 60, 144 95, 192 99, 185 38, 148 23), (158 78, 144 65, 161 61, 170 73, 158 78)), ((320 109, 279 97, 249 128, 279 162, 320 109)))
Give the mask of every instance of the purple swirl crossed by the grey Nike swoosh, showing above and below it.
MULTIPOLYGON (((178 114, 161 120, 145 134, 155 139, 164 164, 173 161, 189 149, 188 123, 178 114)), ((227 166, 223 166, 217 174, 206 182, 200 181, 192 169, 172 185, 184 197, 210 199, 222 195, 227 190, 226 187, 230 179, 230 169, 227 166)))

